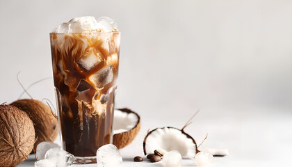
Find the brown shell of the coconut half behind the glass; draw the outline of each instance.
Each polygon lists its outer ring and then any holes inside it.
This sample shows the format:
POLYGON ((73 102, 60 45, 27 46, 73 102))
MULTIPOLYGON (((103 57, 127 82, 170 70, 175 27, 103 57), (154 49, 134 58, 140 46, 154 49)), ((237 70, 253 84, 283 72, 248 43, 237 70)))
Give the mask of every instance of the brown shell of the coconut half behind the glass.
POLYGON ((124 148, 126 145, 129 145, 129 143, 131 143, 133 139, 136 137, 136 135, 138 134, 140 130, 140 116, 138 116, 137 113, 127 108, 118 109, 118 110, 126 112, 126 113, 134 113, 138 117, 138 122, 136 126, 133 127, 131 130, 113 135, 113 144, 117 146, 118 149, 120 149, 120 148, 124 148))

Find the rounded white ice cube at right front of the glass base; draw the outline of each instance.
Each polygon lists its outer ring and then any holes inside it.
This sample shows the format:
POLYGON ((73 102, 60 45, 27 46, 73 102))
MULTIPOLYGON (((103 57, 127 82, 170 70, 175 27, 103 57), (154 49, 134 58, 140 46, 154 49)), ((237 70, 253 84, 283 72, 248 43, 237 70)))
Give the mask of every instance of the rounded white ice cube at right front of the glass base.
POLYGON ((120 167, 122 166, 122 156, 117 147, 112 144, 104 145, 97 150, 98 167, 120 167))

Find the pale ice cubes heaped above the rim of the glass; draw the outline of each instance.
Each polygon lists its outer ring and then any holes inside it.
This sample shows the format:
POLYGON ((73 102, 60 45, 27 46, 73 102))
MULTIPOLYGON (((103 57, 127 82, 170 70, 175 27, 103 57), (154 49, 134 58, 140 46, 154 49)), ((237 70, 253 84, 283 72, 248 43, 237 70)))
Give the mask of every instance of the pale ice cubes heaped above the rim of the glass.
POLYGON ((108 17, 99 17, 95 19, 92 16, 76 17, 69 22, 60 24, 54 33, 83 33, 83 32, 112 32, 117 31, 117 24, 108 17))

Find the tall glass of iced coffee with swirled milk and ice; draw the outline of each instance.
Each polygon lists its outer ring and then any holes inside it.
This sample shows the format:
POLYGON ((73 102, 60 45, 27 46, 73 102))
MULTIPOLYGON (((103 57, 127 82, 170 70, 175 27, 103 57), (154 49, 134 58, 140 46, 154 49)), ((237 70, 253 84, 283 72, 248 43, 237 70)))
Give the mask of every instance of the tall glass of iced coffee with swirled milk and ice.
POLYGON ((94 162, 112 140, 120 33, 108 17, 78 17, 50 38, 63 149, 94 162))

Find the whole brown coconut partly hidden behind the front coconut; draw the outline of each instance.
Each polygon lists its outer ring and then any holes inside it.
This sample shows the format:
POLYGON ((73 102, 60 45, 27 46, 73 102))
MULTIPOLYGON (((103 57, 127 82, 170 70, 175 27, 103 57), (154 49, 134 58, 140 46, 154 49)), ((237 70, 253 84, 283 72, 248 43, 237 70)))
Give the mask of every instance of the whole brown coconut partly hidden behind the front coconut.
POLYGON ((34 148, 42 141, 55 141, 58 136, 58 119, 49 106, 38 100, 17 100, 11 105, 17 106, 29 115, 35 125, 34 148))

